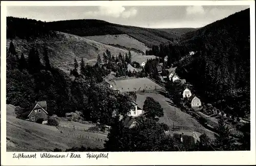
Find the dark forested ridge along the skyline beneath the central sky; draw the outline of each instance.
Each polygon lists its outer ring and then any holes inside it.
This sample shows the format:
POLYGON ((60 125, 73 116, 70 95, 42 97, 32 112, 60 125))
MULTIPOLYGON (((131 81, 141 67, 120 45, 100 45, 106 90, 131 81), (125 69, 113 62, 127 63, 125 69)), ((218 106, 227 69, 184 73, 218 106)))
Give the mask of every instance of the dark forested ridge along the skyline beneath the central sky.
POLYGON ((170 42, 179 34, 147 29, 136 26, 114 24, 102 20, 84 19, 48 22, 51 30, 74 34, 78 36, 120 35, 127 34, 151 47, 153 44, 170 42))

